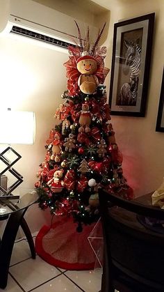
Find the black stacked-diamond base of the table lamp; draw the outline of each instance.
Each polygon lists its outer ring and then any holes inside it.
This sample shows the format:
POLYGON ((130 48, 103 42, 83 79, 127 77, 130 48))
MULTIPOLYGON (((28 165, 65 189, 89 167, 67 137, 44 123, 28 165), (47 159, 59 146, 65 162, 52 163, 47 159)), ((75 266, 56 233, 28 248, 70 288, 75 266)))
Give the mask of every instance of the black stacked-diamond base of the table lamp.
POLYGON ((6 172, 9 171, 10 174, 13 174, 13 176, 15 176, 15 178, 17 178, 17 180, 15 181, 15 183, 13 183, 13 185, 10 185, 10 187, 8 187, 7 190, 5 190, 3 187, 1 187, 0 185, 0 190, 1 192, 3 192, 4 195, 8 195, 8 194, 12 194, 13 190, 15 190, 15 188, 20 185, 20 183, 22 183, 23 181, 23 176, 21 174, 19 174, 12 166, 21 158, 22 156, 19 155, 19 153, 17 153, 12 147, 8 146, 8 148, 6 148, 4 151, 2 151, 0 153, 0 160, 5 163, 7 165, 7 167, 5 169, 3 169, 3 171, 1 171, 0 173, 0 177, 6 172), (10 162, 10 160, 8 160, 7 157, 4 156, 5 153, 7 153, 8 151, 12 151, 17 158, 15 160, 13 160, 13 162, 10 162))

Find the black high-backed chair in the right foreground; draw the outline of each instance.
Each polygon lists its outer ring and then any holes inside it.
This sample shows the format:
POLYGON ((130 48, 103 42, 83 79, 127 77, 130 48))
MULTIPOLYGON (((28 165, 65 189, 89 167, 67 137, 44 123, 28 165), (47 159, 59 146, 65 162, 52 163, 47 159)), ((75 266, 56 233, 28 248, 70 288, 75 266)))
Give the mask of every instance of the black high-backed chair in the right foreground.
POLYGON ((164 220, 164 210, 103 189, 99 208, 104 233, 101 292, 164 291, 164 233, 145 228, 138 220, 143 215, 164 220))

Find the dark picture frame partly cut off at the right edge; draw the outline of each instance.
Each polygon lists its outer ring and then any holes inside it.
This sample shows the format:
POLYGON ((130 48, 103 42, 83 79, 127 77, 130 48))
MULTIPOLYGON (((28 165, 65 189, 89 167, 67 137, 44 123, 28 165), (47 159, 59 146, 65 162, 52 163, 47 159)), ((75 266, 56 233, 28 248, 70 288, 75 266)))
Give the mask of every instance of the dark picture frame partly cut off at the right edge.
POLYGON ((158 115, 156 119, 156 132, 164 132, 164 68, 161 84, 161 94, 158 105, 158 115))

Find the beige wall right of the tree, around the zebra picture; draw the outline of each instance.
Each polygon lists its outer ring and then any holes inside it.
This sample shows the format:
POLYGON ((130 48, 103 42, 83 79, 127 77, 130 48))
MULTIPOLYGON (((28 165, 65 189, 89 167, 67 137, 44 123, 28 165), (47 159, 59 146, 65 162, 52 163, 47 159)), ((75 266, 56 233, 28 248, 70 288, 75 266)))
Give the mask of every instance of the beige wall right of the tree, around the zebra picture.
MULTIPOLYGON (((113 24, 118 20, 156 13, 146 116, 143 118, 112 116, 117 144, 124 155, 124 174, 136 195, 144 194, 156 189, 164 176, 164 133, 155 130, 164 61, 164 1, 104 0, 101 1, 101 5, 110 9, 110 28, 106 42, 108 45, 106 65, 109 64, 110 68, 113 24)), ((106 84, 109 84, 107 80, 106 84)))

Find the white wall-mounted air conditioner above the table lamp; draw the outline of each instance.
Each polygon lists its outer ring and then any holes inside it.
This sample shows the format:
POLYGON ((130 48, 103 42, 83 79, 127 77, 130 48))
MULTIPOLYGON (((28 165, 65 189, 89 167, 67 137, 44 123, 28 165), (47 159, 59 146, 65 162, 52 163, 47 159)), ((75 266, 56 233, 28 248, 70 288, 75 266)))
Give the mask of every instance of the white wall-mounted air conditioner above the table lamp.
MULTIPOLYGON (((97 32, 92 26, 92 34, 96 36, 97 32)), ((74 44, 78 35, 74 18, 69 15, 31 0, 0 0, 0 36, 8 33, 62 48, 74 44)))

